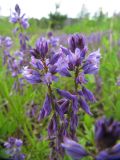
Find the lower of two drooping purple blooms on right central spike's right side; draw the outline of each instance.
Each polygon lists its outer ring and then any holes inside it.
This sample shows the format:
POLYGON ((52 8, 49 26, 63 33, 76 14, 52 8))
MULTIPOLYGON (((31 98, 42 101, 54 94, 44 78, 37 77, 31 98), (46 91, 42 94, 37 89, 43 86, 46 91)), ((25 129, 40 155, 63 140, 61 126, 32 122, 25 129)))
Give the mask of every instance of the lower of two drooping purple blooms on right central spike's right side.
POLYGON ((87 102, 83 99, 83 98, 80 98, 79 99, 79 103, 80 103, 80 106, 81 108, 89 115, 92 115, 92 113, 90 112, 90 108, 87 104, 87 102))

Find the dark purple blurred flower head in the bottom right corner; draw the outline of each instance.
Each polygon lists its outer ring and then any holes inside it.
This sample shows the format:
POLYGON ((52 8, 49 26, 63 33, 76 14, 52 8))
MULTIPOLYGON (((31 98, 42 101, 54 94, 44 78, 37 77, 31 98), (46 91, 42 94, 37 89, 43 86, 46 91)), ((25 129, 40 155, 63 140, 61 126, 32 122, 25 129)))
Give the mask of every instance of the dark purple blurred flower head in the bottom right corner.
POLYGON ((120 122, 105 117, 95 124, 95 142, 98 150, 112 147, 120 138, 120 122))

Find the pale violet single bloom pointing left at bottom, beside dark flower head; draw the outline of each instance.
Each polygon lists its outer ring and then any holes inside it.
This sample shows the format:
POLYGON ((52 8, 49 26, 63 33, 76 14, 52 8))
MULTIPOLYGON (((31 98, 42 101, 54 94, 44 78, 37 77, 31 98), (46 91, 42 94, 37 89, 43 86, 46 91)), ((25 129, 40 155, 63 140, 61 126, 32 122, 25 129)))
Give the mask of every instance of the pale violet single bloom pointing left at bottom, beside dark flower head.
POLYGON ((75 160, 80 160, 83 157, 88 156, 88 153, 85 151, 85 149, 83 149, 80 144, 69 138, 64 138, 64 143, 62 143, 62 147, 66 150, 67 154, 75 160))

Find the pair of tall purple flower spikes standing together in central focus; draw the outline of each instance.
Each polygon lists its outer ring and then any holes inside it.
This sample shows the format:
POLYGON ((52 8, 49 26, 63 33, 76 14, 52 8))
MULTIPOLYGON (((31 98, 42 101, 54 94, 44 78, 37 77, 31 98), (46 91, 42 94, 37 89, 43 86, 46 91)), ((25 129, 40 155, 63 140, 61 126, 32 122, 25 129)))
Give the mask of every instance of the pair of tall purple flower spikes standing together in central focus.
MULTIPOLYGON (((50 35, 51 36, 51 35, 50 35)), ((92 115, 88 102, 95 102, 93 93, 85 87, 88 82, 86 74, 96 74, 99 70, 100 51, 87 54, 85 37, 81 34, 71 35, 68 48, 61 46, 51 54, 49 43, 41 37, 36 41, 35 48, 30 50, 31 61, 22 71, 23 77, 31 84, 45 84, 48 93, 38 116, 38 121, 51 115, 48 124, 48 136, 52 141, 52 156, 64 155, 61 142, 64 136, 76 139, 78 113, 82 108, 92 115), (57 89, 62 97, 58 99, 52 88, 53 81, 60 76, 71 77, 74 81, 72 92, 57 89), (74 76, 73 76, 74 75, 74 76), (54 138, 53 138, 54 137, 54 138)), ((54 157, 55 158, 55 157, 54 157)))

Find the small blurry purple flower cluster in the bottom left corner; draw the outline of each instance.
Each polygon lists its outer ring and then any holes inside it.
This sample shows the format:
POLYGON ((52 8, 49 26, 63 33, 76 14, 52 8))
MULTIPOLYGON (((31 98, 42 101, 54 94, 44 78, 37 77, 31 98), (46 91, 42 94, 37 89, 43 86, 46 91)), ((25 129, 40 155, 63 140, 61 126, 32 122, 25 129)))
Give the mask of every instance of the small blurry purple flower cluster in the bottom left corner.
POLYGON ((21 139, 10 137, 7 142, 4 143, 7 151, 6 153, 14 160, 24 160, 25 155, 21 153, 21 147, 23 142, 21 139))

